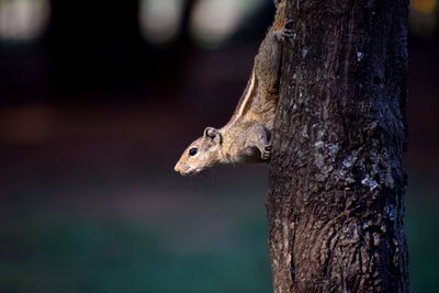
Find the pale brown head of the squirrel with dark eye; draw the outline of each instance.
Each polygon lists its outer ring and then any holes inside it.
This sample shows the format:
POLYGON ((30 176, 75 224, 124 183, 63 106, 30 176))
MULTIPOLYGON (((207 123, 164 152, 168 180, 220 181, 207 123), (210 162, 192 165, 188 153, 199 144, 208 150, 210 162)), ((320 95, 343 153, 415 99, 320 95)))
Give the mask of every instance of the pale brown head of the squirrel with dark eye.
POLYGON ((195 174, 221 161, 223 136, 218 129, 206 127, 203 136, 198 138, 181 155, 173 168, 181 174, 195 174))

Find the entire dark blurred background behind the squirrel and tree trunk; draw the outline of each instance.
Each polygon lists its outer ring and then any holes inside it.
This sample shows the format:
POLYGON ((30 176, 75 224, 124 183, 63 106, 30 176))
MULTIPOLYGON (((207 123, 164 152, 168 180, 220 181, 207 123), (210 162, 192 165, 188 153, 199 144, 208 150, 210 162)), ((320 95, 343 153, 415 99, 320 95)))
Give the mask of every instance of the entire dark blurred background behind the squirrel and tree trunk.
MULTIPOLYGON (((409 18, 412 292, 439 288, 439 8, 409 18)), ((222 126, 269 0, 0 0, 0 292, 270 292, 264 166, 172 168, 222 126)))

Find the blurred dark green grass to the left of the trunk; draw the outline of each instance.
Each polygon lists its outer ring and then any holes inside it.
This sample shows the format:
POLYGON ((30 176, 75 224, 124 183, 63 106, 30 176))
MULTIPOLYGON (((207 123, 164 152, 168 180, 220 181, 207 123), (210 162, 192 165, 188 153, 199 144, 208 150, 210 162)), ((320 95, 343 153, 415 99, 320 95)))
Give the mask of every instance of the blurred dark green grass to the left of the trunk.
POLYGON ((135 223, 22 219, 2 235, 16 251, 1 292, 269 292, 263 222, 230 234, 233 247, 182 252, 135 223))

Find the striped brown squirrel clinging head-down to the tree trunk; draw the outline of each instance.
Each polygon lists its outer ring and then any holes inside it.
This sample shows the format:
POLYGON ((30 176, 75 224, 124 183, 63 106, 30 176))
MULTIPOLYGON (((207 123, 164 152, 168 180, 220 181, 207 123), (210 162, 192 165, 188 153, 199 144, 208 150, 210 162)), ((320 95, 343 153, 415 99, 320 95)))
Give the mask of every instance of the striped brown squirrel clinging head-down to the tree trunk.
POLYGON ((291 38, 291 20, 285 0, 274 0, 277 12, 255 57, 247 87, 229 122, 217 129, 206 127, 203 136, 183 151, 175 170, 195 174, 219 164, 266 162, 270 159, 270 136, 279 100, 282 48, 291 38))

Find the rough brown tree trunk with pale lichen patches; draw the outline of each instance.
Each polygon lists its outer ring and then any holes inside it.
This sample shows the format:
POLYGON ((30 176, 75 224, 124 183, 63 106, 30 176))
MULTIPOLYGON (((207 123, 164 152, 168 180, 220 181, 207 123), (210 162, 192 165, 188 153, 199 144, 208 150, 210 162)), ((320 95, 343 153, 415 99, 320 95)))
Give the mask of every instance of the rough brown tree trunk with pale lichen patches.
POLYGON ((407 0, 288 0, 273 131, 274 292, 407 292, 407 0))

